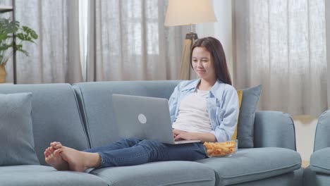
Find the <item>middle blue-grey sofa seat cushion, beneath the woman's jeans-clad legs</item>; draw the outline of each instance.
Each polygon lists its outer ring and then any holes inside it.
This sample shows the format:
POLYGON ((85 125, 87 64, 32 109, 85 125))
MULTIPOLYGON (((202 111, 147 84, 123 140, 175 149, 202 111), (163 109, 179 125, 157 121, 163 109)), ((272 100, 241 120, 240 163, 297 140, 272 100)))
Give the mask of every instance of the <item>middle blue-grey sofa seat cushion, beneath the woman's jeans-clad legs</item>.
POLYGON ((214 185, 214 170, 192 161, 160 161, 91 172, 114 185, 214 185))

